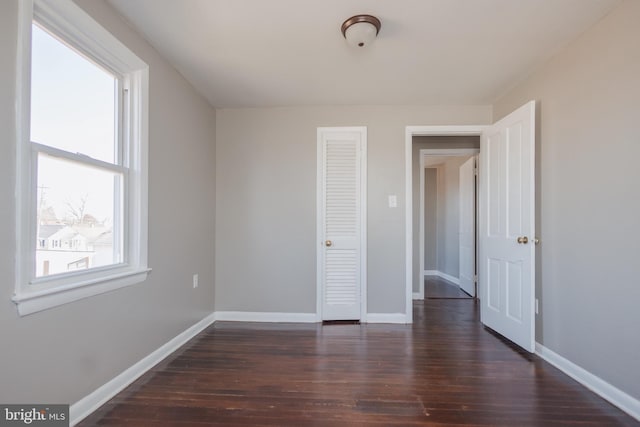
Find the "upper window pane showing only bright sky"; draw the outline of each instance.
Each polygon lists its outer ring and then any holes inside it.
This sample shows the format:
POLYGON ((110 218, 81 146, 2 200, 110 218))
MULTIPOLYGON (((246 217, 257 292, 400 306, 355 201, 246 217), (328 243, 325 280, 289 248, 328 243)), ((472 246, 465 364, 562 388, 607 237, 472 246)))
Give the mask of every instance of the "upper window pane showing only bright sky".
POLYGON ((116 161, 116 79, 33 25, 31 141, 116 161))

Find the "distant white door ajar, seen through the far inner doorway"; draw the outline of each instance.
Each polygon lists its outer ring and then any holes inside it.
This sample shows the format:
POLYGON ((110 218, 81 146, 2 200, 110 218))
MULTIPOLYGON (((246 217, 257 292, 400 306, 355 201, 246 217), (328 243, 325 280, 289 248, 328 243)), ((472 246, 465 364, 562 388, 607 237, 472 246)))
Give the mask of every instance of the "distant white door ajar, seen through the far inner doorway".
POLYGON ((476 296, 476 158, 460 166, 460 289, 476 296))

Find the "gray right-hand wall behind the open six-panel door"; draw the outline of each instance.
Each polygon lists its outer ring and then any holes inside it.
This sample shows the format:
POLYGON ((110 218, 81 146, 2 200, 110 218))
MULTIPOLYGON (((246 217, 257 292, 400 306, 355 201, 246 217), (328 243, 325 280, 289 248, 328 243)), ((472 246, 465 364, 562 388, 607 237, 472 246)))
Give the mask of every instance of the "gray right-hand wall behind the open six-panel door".
POLYGON ((640 2, 494 106, 539 101, 536 339, 640 399, 640 2))

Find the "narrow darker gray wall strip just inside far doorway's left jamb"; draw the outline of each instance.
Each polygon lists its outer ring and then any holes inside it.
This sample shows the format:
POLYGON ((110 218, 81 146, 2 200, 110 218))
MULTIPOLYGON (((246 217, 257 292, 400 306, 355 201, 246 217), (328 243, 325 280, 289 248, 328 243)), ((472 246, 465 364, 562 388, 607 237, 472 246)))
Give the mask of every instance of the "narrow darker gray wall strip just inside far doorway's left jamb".
POLYGON ((424 269, 438 269, 438 169, 424 170, 424 269))

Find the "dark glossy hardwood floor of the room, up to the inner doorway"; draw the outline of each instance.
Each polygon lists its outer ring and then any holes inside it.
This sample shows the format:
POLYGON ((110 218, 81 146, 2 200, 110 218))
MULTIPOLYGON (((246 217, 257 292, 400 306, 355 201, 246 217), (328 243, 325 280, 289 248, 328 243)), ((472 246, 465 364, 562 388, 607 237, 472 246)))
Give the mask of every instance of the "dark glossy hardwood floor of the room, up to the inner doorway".
POLYGON ((414 321, 216 322, 80 425, 640 425, 484 329, 475 300, 414 321))

